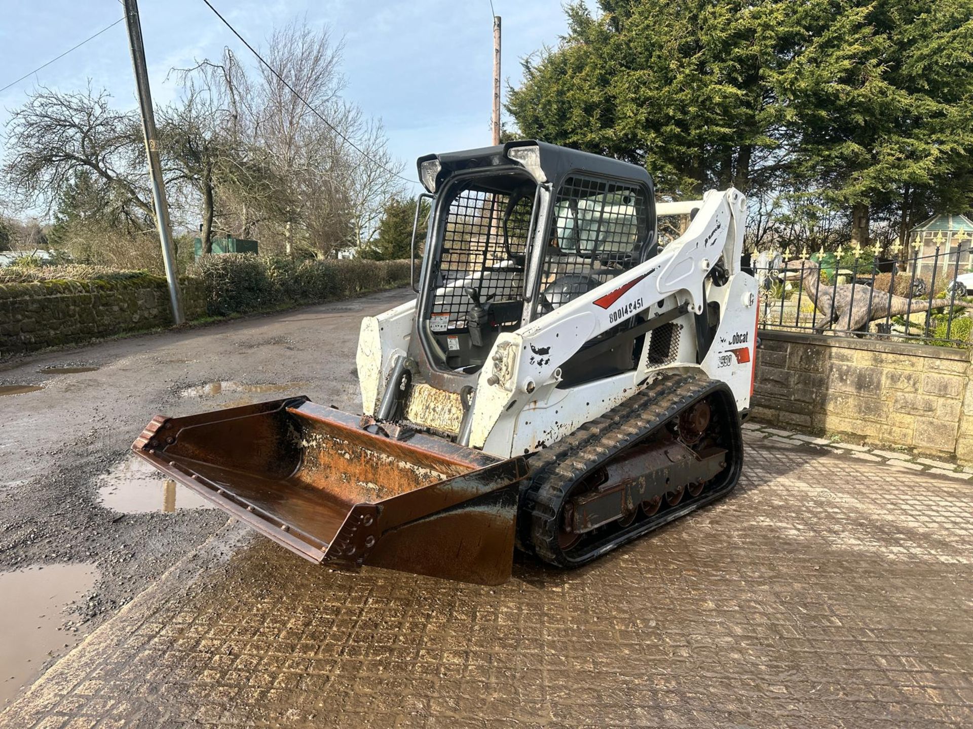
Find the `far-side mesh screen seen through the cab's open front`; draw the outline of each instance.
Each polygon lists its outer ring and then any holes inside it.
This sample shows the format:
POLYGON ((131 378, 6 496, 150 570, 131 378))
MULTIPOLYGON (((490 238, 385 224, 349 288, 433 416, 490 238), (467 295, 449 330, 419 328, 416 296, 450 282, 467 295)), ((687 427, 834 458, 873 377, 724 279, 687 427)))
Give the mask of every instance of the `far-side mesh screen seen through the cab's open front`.
POLYGON ((475 289, 484 302, 522 298, 523 253, 534 199, 532 193, 524 195, 510 207, 511 199, 508 194, 471 189, 450 203, 436 277, 434 331, 466 329, 466 312, 473 302, 464 289, 475 289))

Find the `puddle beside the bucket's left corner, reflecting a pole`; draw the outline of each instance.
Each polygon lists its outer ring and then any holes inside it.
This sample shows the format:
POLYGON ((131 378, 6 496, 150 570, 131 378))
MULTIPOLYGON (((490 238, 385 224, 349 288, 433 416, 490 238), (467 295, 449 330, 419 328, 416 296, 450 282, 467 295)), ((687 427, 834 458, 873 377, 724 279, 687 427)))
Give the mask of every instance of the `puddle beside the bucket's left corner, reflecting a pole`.
POLYGON ((98 476, 98 500, 123 514, 172 513, 184 508, 215 508, 195 491, 165 478, 146 461, 131 456, 98 476))

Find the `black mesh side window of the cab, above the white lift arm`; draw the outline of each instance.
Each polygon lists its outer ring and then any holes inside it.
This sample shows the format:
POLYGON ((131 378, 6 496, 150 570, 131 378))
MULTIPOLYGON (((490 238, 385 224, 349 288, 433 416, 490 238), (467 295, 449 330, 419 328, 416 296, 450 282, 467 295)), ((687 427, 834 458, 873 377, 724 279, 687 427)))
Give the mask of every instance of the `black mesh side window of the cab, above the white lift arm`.
POLYGON ((648 205, 641 187, 567 178, 555 200, 535 316, 636 265, 647 231, 648 205))

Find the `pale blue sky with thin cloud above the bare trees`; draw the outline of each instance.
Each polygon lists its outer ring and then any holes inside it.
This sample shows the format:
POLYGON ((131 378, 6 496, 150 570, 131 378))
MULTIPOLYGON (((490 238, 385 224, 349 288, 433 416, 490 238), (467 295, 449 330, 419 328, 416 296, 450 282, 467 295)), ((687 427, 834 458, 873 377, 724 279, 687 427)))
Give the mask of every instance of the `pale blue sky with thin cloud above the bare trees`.
MULTIPOLYGON (((414 177, 416 156, 489 143, 492 20, 488 0, 213 0, 253 45, 293 17, 327 24, 344 39, 345 97, 385 124, 392 153, 414 177)), ((559 0, 493 0, 503 17, 503 77, 515 85, 521 58, 566 32, 559 0)), ((202 0, 142 0, 142 32, 154 100, 178 92, 172 67, 216 58, 224 46, 249 52, 202 0)), ((0 0, 0 87, 122 17, 118 0, 0 0)), ((0 93, 0 129, 35 84, 105 87, 133 108, 125 23, 0 93)), ((0 154, 3 140, 0 139, 0 154)))

